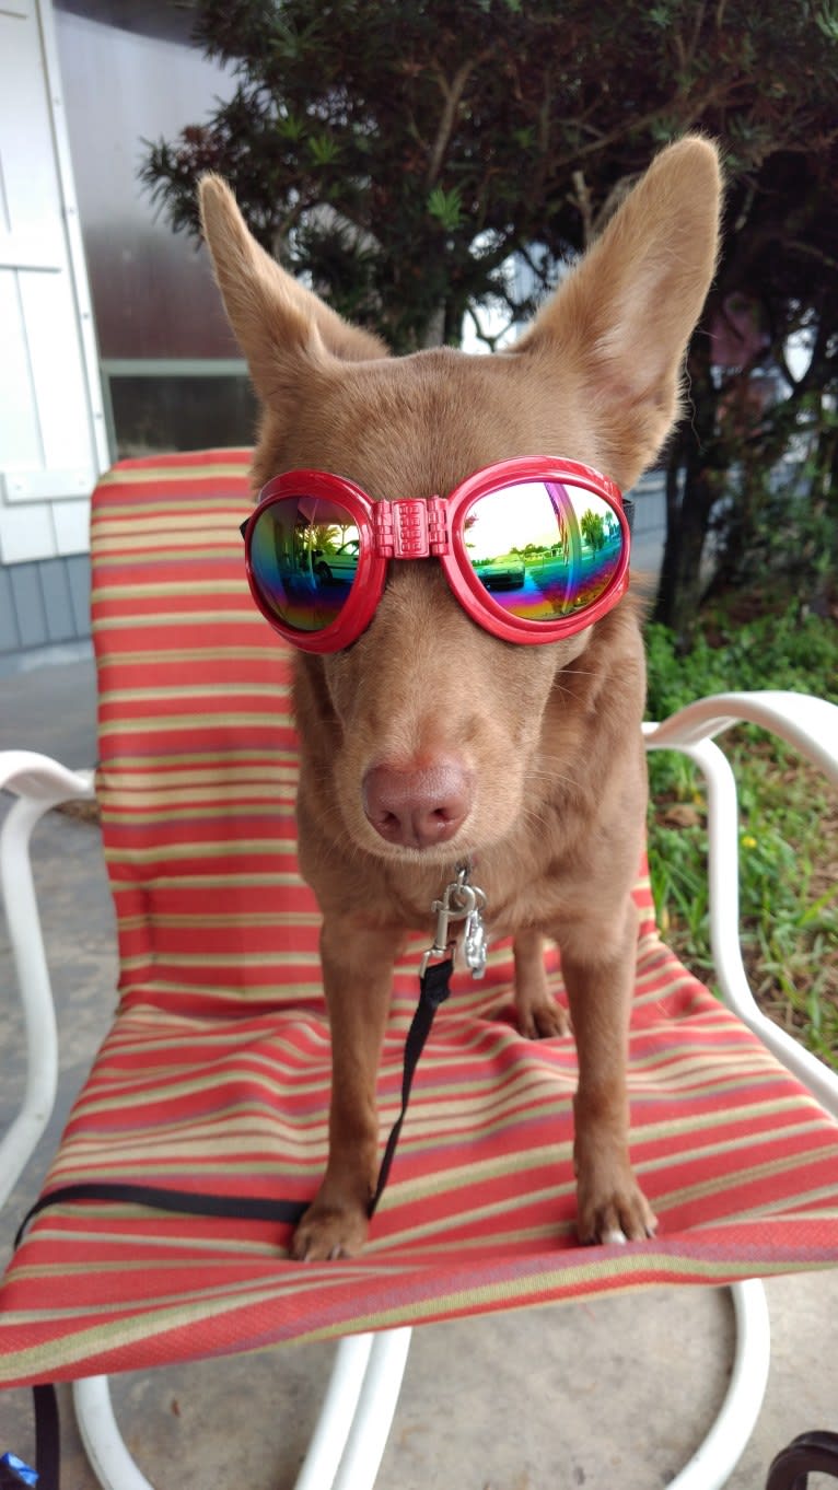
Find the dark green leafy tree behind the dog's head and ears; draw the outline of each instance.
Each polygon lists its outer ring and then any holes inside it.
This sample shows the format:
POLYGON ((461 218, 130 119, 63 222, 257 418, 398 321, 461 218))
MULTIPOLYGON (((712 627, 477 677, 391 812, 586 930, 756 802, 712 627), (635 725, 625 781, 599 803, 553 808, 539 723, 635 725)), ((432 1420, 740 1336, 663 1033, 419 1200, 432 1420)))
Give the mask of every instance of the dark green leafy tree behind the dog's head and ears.
POLYGON ((491 302, 528 316, 659 145, 723 142, 726 246, 668 457, 659 614, 687 633, 711 513, 753 505, 731 468, 804 416, 820 484, 835 460, 834 0, 200 0, 195 34, 236 92, 151 146, 143 180, 197 232, 195 179, 221 171, 256 237, 400 352, 458 341, 491 302), (720 371, 735 297, 765 334, 720 371), (795 329, 814 355, 792 407, 744 419, 795 329))

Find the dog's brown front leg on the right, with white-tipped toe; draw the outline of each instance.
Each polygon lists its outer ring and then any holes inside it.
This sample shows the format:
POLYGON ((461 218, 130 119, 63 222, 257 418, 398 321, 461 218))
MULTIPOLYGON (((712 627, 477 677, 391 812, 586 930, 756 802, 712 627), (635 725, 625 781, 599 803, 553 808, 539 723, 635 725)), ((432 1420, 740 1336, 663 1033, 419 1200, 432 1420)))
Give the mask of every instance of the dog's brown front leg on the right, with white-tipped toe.
POLYGON ((628 1150, 626 1046, 634 985, 637 910, 622 933, 601 922, 576 928, 562 946, 579 1055, 574 1101, 574 1161, 580 1241, 638 1241, 655 1235, 656 1220, 640 1189, 628 1150), (595 949, 580 955, 580 948, 595 949))

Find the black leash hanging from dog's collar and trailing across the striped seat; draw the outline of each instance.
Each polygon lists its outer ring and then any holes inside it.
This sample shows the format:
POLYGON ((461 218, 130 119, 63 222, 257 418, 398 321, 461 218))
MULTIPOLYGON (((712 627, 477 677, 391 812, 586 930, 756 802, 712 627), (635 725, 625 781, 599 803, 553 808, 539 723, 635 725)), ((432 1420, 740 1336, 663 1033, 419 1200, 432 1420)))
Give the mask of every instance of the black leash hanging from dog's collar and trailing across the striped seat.
MULTIPOLYGON (((453 960, 447 957, 441 963, 429 964, 419 980, 419 1003, 416 1004, 416 1012, 404 1042, 401 1112, 392 1125, 385 1146, 376 1191, 370 1201, 370 1216, 376 1210, 386 1186, 398 1135, 410 1101, 416 1065, 431 1033, 434 1015, 449 997, 452 973, 453 960)), ((89 1180, 86 1183, 79 1182, 79 1185, 58 1185, 54 1191, 42 1195, 24 1216, 15 1237, 15 1247, 21 1244, 28 1223, 49 1205, 64 1205, 75 1201, 113 1201, 122 1205, 149 1205, 155 1210, 176 1211, 186 1216, 228 1216, 233 1220, 268 1220, 291 1225, 295 1225, 309 1208, 307 1201, 283 1201, 267 1195, 213 1195, 206 1191, 174 1191, 157 1185, 122 1185, 110 1180, 89 1180)), ((37 1490, 60 1490, 61 1453, 55 1387, 51 1384, 33 1387, 33 1396, 37 1490)))

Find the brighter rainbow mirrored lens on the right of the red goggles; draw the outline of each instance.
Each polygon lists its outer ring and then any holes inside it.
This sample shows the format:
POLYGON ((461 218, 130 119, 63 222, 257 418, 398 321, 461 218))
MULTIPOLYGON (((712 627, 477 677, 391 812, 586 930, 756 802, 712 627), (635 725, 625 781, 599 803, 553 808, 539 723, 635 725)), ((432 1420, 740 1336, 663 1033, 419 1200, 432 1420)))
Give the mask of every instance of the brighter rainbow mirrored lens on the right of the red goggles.
POLYGON ((567 481, 516 481, 479 496, 462 538, 483 589, 526 621, 553 621, 593 605, 623 557, 611 505, 567 481))

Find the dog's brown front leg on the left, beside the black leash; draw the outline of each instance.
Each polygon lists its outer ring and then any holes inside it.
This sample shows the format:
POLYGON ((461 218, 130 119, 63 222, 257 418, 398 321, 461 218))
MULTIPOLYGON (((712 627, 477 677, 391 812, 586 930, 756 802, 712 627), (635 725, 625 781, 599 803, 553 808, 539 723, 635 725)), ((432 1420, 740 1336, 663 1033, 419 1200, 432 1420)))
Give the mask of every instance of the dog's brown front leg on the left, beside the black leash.
POLYGON ((379 1161, 376 1076, 403 940, 392 928, 359 930, 343 916, 324 921, 321 958, 333 1049, 330 1152, 318 1195, 294 1234, 291 1252, 301 1262, 350 1258, 367 1240, 379 1161))

